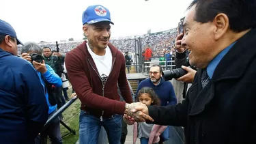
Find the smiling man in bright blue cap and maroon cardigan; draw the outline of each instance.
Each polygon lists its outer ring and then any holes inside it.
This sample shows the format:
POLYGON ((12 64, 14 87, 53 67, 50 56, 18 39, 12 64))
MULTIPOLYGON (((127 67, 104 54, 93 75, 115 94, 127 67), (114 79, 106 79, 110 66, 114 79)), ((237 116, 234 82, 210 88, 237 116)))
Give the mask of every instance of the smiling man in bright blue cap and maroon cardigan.
POLYGON ((67 53, 65 60, 70 83, 81 100, 79 141, 81 144, 98 143, 103 126, 109 143, 119 144, 121 115, 131 111, 132 106, 128 104, 132 96, 126 78, 126 59, 109 43, 113 22, 107 8, 89 6, 83 12, 82 22, 88 42, 67 53), (117 83, 125 102, 119 101, 117 83))

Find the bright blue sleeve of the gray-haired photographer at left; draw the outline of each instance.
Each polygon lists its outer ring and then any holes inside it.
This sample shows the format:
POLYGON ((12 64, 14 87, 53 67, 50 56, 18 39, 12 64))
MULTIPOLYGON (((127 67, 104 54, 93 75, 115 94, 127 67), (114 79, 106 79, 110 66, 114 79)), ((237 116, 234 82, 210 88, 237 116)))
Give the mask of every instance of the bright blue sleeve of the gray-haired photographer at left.
POLYGON ((48 83, 53 84, 55 87, 61 87, 62 85, 61 78, 54 72, 53 68, 51 68, 51 66, 48 66, 48 64, 46 64, 46 69, 47 69, 47 72, 43 74, 46 81, 48 81, 48 83))

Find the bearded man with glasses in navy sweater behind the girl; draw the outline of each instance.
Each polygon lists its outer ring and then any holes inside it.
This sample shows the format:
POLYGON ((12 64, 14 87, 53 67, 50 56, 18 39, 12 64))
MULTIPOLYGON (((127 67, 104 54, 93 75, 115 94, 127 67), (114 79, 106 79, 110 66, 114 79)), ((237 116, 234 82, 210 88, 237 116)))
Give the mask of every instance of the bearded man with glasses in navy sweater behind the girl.
MULTIPOLYGON (((177 104, 177 98, 174 93, 173 85, 169 81, 162 78, 162 67, 160 65, 153 65, 150 68, 150 78, 147 78, 139 83, 137 93, 142 87, 151 87, 154 89, 162 106, 177 104)), ((165 129, 160 135, 160 143, 169 139, 169 127, 165 129)))

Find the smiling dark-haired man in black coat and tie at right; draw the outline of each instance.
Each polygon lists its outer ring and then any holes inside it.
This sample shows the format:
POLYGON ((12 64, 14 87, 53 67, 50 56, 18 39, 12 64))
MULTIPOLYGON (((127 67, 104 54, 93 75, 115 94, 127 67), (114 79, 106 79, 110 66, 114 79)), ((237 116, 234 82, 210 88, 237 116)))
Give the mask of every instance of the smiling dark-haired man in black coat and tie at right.
POLYGON ((186 127, 186 143, 256 143, 256 3, 197 0, 184 20, 185 46, 199 68, 186 100, 134 106, 154 124, 186 127))

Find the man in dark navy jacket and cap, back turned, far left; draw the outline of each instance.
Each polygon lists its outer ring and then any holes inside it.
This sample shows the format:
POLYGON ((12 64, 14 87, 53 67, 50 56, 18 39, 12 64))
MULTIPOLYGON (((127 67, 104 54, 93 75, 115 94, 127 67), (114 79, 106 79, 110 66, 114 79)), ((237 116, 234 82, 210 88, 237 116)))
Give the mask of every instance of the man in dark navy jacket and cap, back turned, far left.
POLYGON ((16 57, 22 44, 0 20, 0 141, 34 143, 48 118, 44 88, 30 63, 16 57))

